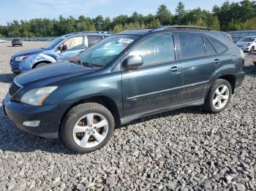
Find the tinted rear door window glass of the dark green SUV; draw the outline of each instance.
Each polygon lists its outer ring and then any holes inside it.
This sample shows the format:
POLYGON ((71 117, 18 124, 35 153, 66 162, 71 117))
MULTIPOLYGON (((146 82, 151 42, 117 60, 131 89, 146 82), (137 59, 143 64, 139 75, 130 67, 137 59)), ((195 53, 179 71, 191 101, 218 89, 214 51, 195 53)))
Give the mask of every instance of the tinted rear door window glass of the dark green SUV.
POLYGON ((181 59, 206 55, 203 36, 198 34, 178 34, 178 47, 181 59))

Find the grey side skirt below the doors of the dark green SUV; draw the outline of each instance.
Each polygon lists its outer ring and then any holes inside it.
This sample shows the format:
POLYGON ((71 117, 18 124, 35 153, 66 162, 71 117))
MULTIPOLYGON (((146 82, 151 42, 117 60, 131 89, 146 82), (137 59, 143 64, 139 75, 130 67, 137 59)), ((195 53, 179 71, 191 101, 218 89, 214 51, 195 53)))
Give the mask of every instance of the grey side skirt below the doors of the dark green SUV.
POLYGON ((131 122, 133 120, 137 120, 137 119, 142 118, 142 117, 151 116, 151 115, 159 114, 159 113, 162 113, 162 112, 168 112, 168 111, 171 111, 171 110, 181 109, 181 108, 188 107, 188 106, 201 106, 201 105, 204 104, 204 101, 205 101, 205 99, 203 98, 203 99, 198 100, 198 101, 193 101, 193 102, 189 102, 189 103, 186 103, 186 104, 181 104, 181 105, 178 105, 178 106, 171 106, 171 107, 167 107, 167 108, 164 108, 164 109, 154 110, 152 112, 146 112, 146 113, 142 113, 142 114, 132 115, 132 116, 129 116, 129 117, 124 117, 124 118, 121 118, 121 125, 124 125, 128 122, 131 122))

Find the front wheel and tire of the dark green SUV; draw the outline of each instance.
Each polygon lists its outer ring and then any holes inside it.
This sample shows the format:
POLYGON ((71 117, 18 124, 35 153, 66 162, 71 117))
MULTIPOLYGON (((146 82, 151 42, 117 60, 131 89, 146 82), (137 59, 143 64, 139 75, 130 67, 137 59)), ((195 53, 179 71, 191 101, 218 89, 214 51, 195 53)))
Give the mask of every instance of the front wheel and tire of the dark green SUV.
POLYGON ((113 115, 105 106, 86 103, 73 107, 67 113, 60 136, 64 144, 74 152, 93 152, 108 143, 114 129, 113 115), (103 126, 96 128, 97 125, 103 126))

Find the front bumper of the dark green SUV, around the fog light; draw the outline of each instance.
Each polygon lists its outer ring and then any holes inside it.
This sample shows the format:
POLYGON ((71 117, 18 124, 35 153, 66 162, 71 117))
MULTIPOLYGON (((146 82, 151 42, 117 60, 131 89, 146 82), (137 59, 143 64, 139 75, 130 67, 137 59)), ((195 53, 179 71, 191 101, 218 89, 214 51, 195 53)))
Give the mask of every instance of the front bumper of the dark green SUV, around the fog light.
POLYGON ((29 106, 17 101, 11 101, 7 95, 3 101, 4 112, 15 125, 27 133, 49 139, 57 139, 59 124, 64 112, 61 112, 59 105, 29 106), (22 125, 24 121, 39 120, 38 127, 32 128, 22 125))

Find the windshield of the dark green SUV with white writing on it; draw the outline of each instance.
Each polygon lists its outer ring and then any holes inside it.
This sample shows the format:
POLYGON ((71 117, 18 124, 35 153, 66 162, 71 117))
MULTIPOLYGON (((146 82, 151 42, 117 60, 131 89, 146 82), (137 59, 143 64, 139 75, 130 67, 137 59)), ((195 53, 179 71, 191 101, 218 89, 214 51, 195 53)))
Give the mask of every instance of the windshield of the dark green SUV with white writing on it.
POLYGON ((123 52, 129 44, 131 44, 138 36, 135 35, 113 35, 94 44, 85 52, 78 55, 78 60, 83 63, 103 67, 108 65, 121 52, 123 52))

